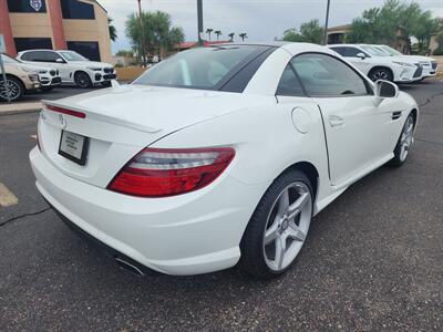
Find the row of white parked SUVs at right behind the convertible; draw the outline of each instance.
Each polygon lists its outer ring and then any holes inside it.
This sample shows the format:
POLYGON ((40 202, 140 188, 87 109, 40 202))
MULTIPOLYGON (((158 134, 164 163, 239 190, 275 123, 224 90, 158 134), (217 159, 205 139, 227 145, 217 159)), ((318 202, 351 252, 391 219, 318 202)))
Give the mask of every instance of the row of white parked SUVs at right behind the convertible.
POLYGON ((372 81, 412 83, 435 76, 437 62, 429 56, 404 55, 388 45, 332 44, 329 48, 372 81))

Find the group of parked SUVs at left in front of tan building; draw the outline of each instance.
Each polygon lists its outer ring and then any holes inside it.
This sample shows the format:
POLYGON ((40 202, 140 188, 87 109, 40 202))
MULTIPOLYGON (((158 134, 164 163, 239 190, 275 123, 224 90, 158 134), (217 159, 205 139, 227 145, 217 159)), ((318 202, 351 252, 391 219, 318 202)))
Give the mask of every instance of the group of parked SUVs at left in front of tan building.
POLYGON ((74 51, 29 50, 20 52, 17 59, 7 54, 1 54, 1 59, 7 85, 0 84, 0 101, 17 101, 28 92, 51 91, 62 84, 81 89, 107 86, 116 79, 111 64, 90 61, 74 51))

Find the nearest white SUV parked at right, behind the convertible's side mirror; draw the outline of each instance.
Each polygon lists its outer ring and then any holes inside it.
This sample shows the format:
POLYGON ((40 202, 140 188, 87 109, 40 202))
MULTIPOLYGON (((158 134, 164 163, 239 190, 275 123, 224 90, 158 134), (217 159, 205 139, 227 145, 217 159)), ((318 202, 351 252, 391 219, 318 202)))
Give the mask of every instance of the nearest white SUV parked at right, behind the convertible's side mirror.
POLYGON ((333 44, 328 46, 346 58, 372 81, 410 83, 422 79, 423 68, 420 63, 400 56, 385 56, 385 53, 372 45, 333 44))

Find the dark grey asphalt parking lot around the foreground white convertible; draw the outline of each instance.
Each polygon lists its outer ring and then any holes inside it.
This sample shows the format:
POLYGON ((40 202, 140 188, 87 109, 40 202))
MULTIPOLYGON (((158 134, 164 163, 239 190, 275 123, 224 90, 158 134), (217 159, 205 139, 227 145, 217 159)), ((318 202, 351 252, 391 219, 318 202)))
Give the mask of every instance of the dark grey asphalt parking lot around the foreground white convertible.
POLYGON ((320 212, 296 266, 269 282, 237 268, 143 279, 120 270, 35 189, 38 114, 0 116, 10 193, 0 205, 0 331, 442 331, 443 81, 401 89, 421 105, 408 163, 380 168, 320 212))

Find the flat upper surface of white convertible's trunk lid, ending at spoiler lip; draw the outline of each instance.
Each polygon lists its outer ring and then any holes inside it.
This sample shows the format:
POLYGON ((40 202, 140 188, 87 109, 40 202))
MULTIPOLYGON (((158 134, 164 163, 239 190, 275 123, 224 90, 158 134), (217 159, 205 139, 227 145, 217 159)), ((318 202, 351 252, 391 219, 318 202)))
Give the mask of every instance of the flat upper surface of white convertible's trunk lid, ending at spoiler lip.
POLYGON ((227 113, 276 103, 274 96, 121 85, 50 102, 91 117, 145 132, 169 133, 227 113))

